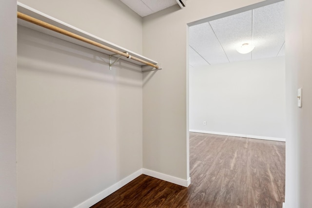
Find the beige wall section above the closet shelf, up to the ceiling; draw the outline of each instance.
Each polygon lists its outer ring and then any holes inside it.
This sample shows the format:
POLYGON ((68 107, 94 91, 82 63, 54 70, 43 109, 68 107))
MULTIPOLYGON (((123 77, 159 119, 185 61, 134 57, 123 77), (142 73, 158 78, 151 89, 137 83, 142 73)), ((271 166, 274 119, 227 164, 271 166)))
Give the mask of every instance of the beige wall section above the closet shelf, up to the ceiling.
POLYGON ((92 35, 142 54, 142 18, 120 0, 19 0, 92 35))

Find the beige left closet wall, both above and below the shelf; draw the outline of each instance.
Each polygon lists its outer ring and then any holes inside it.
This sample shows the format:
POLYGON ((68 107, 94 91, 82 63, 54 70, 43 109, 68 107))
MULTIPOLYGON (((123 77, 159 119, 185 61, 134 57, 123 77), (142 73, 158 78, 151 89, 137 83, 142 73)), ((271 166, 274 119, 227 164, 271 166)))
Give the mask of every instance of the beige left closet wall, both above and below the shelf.
MULTIPOLYGON (((29 5, 141 51, 142 19, 122 3, 36 2, 29 5), (56 6, 70 4, 68 14, 56 6)), ((141 68, 120 61, 110 71, 108 62, 107 55, 18 28, 19 207, 74 207, 142 170, 141 68)))

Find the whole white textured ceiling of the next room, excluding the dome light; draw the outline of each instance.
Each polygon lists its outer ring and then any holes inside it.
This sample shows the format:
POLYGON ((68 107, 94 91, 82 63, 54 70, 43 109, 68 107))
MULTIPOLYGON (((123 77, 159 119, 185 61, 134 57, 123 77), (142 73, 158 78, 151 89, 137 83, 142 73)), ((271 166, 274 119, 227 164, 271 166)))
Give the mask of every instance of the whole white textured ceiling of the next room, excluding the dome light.
POLYGON ((189 38, 191 66, 284 56, 284 1, 191 26, 189 38), (254 50, 239 54, 246 42, 254 50))

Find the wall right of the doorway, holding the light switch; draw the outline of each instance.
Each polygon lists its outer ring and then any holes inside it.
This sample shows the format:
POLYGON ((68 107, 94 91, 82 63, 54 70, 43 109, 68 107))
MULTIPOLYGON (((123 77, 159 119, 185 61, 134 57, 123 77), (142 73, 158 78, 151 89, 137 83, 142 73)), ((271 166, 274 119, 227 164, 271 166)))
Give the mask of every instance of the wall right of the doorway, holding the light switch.
POLYGON ((312 2, 286 0, 287 208, 312 206, 312 2), (302 108, 297 89, 302 88, 302 108))

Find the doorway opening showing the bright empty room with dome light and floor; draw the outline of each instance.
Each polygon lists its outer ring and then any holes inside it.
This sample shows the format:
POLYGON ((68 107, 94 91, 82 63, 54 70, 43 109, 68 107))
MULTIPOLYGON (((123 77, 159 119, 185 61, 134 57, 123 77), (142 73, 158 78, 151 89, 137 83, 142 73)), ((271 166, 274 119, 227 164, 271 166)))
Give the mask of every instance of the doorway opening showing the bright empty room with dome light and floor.
POLYGON ((284 1, 264 3, 188 24, 190 176, 214 203, 285 200, 284 1))

